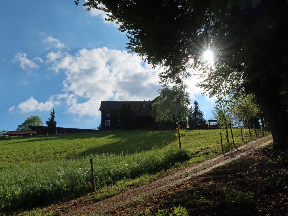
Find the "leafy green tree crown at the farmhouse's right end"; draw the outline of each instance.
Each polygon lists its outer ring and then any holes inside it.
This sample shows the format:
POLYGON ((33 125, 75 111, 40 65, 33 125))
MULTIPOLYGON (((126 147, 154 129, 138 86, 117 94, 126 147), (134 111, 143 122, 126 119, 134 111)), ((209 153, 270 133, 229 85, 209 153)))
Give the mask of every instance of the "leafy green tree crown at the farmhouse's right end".
POLYGON ((188 106, 191 104, 187 86, 160 89, 159 99, 152 104, 151 114, 156 122, 186 122, 188 106))

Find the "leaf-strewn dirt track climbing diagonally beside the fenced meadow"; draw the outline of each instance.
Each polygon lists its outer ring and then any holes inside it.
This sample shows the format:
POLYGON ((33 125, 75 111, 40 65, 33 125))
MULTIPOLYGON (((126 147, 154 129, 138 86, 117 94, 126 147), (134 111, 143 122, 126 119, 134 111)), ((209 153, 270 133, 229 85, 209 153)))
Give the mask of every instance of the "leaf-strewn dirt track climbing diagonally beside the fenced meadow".
POLYGON ((162 190, 171 185, 176 185, 178 183, 187 181, 189 179, 192 179, 199 175, 207 173, 218 166, 229 163, 240 157, 247 156, 253 153, 253 151, 255 151, 256 149, 264 147, 270 144, 271 142, 272 142, 271 135, 262 137, 257 140, 250 141, 247 143, 247 145, 244 144, 241 147, 239 147, 238 151, 232 150, 226 153, 225 156, 220 155, 210 160, 206 160, 194 166, 188 167, 173 175, 168 175, 162 179, 158 179, 157 181, 154 181, 150 184, 143 185, 141 187, 137 187, 137 188, 125 191, 121 194, 95 202, 85 207, 82 207, 76 211, 71 211, 69 213, 66 213, 65 215, 76 215, 76 214, 82 215, 84 213, 88 215, 95 215, 95 214, 101 214, 101 213, 105 214, 113 209, 117 209, 120 206, 128 204, 129 202, 132 202, 133 200, 137 199, 139 196, 148 196, 154 192, 162 190), (262 143, 265 140, 268 140, 268 141, 262 143), (187 173, 189 173, 190 175, 187 173), (187 177, 183 177, 183 176, 187 176, 187 177))

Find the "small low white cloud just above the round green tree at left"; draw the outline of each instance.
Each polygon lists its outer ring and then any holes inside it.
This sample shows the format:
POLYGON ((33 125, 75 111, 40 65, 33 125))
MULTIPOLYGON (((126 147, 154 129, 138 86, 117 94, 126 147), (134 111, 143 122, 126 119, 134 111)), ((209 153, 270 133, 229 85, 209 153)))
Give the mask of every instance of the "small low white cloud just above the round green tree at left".
POLYGON ((46 102, 38 102, 35 98, 30 97, 27 101, 20 103, 17 108, 21 113, 30 113, 33 111, 48 111, 54 107, 54 103, 51 100, 46 102))

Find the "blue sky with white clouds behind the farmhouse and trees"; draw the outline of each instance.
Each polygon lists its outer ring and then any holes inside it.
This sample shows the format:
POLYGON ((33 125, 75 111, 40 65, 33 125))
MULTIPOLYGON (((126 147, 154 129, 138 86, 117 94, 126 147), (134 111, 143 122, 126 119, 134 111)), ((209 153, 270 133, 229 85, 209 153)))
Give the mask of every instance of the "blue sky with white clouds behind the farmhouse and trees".
MULTIPOLYGON (((53 107, 57 126, 95 128, 101 101, 158 95, 161 69, 128 54, 126 34, 103 12, 73 1, 4 1, 0 18, 0 130, 16 130, 31 115, 44 123, 53 107)), ((197 82, 187 80, 188 92, 209 119, 212 100, 197 82)))

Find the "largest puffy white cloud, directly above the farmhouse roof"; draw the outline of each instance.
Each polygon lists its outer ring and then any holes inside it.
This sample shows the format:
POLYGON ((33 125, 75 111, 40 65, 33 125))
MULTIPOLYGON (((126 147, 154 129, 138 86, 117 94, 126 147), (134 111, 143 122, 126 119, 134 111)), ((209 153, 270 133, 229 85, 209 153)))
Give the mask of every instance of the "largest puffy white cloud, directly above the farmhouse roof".
POLYGON ((154 99, 160 88, 155 75, 157 70, 151 69, 141 57, 124 50, 82 49, 75 56, 63 57, 54 69, 65 71, 65 91, 87 98, 85 103, 74 104, 68 109, 79 115, 99 115, 101 101, 154 99))

